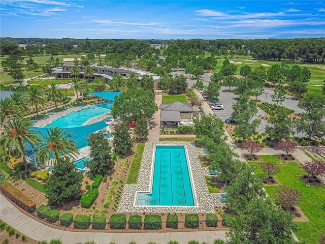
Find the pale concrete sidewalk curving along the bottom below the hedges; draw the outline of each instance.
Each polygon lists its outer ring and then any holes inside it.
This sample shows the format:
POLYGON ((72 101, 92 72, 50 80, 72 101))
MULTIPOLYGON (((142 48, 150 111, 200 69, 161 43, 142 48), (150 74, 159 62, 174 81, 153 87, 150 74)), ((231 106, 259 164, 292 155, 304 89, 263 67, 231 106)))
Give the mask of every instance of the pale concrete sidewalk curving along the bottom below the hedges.
POLYGON ((187 244, 189 240, 207 241, 213 243, 217 238, 225 239, 225 232, 218 231, 188 231, 188 232, 139 232, 139 233, 106 233, 106 232, 74 232, 58 230, 29 218, 22 214, 4 196, 0 195, 0 218, 31 239, 51 240, 60 239, 63 244, 74 244, 93 240, 95 243, 127 244, 135 241, 146 244, 150 241, 156 244, 167 244, 170 240, 177 240, 180 244, 187 244))

